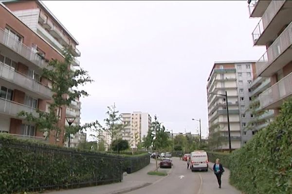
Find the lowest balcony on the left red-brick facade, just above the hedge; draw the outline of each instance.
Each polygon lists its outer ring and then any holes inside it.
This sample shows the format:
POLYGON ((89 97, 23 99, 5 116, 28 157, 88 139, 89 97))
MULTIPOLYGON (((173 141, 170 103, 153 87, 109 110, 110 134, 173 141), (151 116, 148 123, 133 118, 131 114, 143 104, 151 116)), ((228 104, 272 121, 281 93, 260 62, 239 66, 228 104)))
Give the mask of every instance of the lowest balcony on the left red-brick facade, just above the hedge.
POLYGON ((34 109, 32 107, 28 107, 28 106, 25 106, 23 104, 19 104, 17 102, 13 102, 10 100, 0 98, 0 114, 19 118, 18 113, 20 111, 32 113, 36 117, 38 116, 36 109, 34 109))

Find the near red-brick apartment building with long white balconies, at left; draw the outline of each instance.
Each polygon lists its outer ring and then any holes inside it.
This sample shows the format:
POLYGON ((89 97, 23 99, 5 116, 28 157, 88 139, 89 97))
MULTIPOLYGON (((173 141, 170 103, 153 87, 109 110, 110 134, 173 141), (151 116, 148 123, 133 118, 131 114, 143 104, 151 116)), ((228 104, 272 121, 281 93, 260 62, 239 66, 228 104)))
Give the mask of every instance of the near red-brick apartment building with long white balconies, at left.
MULTIPOLYGON (((41 70, 51 59, 63 60, 64 46, 72 46, 74 57, 80 56, 78 42, 41 1, 1 1, 0 18, 0 131, 55 144, 53 134, 45 140, 46 134, 17 114, 48 111, 52 84, 40 76, 41 70)), ((79 62, 75 59, 72 65, 79 62)), ((79 117, 80 103, 62 107, 59 114, 59 126, 64 128, 66 115, 79 117)), ((61 131, 57 144, 63 142, 61 131)))

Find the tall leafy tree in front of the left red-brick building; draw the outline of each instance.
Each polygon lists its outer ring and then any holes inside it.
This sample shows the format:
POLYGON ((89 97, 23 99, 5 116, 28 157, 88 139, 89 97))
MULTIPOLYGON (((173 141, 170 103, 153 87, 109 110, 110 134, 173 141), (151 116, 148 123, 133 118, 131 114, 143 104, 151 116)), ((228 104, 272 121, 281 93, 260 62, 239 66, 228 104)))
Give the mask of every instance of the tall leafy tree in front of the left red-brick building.
MULTIPOLYGON (((48 67, 42 70, 41 76, 52 82, 52 92, 54 94, 52 103, 49 106, 49 113, 40 110, 37 110, 38 116, 24 111, 18 113, 18 116, 24 116, 28 122, 35 123, 37 129, 47 133, 48 136, 54 131, 55 142, 64 135, 63 128, 60 127, 61 124, 59 122, 61 110, 69 106, 71 101, 82 96, 88 96, 86 91, 78 90, 77 87, 93 81, 87 71, 81 68, 76 69, 75 72, 70 70, 70 65, 73 63, 71 48, 64 49, 62 54, 64 61, 51 60, 48 67)), ((95 123, 66 128, 66 132, 76 133, 79 130, 86 129, 89 125, 95 125, 95 123)))

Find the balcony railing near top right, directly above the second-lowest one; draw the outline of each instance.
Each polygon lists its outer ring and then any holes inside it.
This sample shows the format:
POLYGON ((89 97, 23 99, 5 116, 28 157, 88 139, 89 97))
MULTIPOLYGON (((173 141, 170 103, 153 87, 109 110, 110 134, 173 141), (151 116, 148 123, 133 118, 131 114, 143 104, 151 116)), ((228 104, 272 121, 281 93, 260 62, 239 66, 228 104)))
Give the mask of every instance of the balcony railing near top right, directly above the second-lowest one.
POLYGON ((264 32, 270 22, 273 20, 274 16, 278 13, 279 9, 286 2, 286 0, 272 0, 269 4, 267 10, 263 14, 262 18, 259 20, 256 25, 255 30, 253 31, 253 40, 254 44, 256 43, 259 36, 264 32))

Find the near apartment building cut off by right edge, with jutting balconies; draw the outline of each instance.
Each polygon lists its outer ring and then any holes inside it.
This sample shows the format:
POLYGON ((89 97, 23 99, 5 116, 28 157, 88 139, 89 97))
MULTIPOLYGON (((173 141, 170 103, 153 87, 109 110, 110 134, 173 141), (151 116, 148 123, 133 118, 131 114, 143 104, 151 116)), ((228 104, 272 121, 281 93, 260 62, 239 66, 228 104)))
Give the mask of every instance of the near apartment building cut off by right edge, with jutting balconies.
POLYGON ((256 76, 270 79, 258 99, 262 110, 277 115, 284 100, 292 96, 292 1, 249 0, 250 17, 260 18, 252 32, 254 46, 266 52, 256 62, 256 76))

